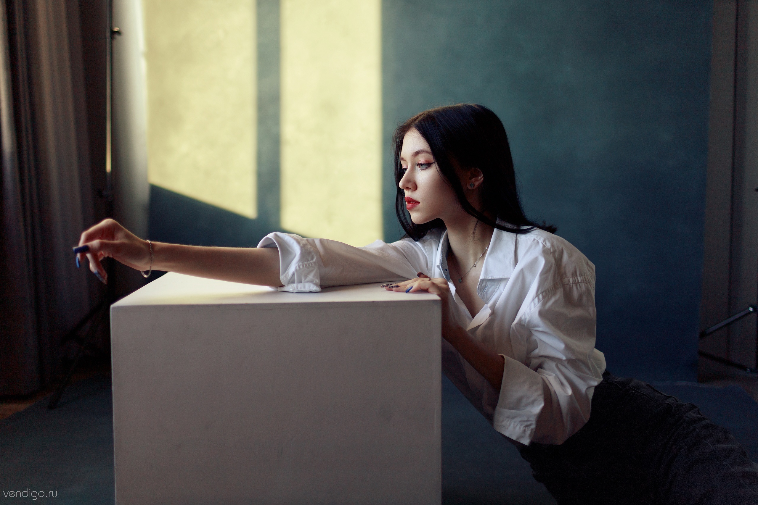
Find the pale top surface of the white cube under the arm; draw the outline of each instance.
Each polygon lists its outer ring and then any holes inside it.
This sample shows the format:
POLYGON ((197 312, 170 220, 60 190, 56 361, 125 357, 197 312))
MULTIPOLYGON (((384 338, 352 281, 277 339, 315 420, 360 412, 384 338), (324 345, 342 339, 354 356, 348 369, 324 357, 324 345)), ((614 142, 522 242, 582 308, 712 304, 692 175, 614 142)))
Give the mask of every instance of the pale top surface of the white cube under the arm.
POLYGON ((331 302, 438 301, 430 293, 387 291, 382 283, 334 286, 315 293, 290 293, 268 286, 227 282, 202 277, 167 273, 131 295, 117 301, 113 307, 136 305, 221 305, 221 304, 303 304, 331 302))

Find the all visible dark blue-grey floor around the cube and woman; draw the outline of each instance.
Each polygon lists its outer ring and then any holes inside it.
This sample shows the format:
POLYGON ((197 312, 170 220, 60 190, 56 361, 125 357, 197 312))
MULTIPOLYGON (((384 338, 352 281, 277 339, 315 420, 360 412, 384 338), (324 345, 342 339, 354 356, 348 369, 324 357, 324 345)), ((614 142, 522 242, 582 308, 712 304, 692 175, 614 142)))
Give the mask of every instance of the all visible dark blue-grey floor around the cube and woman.
MULTIPOLYGON (((657 383, 697 404, 758 460, 758 404, 741 388, 657 383)), ((53 491, 38 503, 114 503, 111 386, 107 377, 71 385, 56 410, 47 398, 0 421, 0 492, 53 491)), ((447 379, 443 382, 443 503, 555 503, 504 438, 447 379)))

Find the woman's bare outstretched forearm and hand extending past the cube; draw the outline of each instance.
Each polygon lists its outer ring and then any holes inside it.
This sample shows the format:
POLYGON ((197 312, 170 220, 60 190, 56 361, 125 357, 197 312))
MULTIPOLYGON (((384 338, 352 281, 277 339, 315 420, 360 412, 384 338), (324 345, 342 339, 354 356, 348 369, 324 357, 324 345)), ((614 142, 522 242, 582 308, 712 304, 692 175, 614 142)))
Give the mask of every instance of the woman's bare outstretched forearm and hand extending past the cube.
MULTIPOLYGON (((136 270, 150 268, 148 242, 111 219, 83 232, 79 245, 88 248, 79 254, 80 260, 86 256, 89 270, 98 273, 103 282, 108 281, 100 264, 104 257, 112 257, 136 270)), ((247 284, 281 285, 276 248, 211 248, 152 242, 152 251, 154 270, 247 284)))

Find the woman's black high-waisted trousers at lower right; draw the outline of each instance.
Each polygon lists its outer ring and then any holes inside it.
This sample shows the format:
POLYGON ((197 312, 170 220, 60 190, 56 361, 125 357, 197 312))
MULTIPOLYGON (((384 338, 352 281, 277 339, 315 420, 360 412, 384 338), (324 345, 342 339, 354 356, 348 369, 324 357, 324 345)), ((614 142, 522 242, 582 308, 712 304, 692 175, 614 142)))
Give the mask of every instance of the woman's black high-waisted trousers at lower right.
POLYGON ((565 503, 758 503, 758 465, 693 404, 603 373, 590 420, 561 445, 521 449, 565 503))

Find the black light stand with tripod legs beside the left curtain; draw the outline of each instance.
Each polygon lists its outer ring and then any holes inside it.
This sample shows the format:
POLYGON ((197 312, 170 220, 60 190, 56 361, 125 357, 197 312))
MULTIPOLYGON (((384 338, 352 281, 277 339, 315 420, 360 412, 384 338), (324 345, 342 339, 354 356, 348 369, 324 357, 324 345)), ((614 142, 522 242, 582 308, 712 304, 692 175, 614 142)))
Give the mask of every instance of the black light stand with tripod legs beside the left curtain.
MULTIPOLYGON (((105 217, 113 217, 113 178, 111 176, 111 111, 113 110, 113 98, 111 94, 111 76, 113 74, 113 39, 116 36, 121 35, 121 30, 113 26, 113 0, 107 0, 106 9, 108 31, 105 36, 105 189, 98 190, 98 195, 100 198, 105 200, 105 217)), ((84 355, 84 352, 89 346, 89 342, 92 341, 92 338, 97 334, 103 323, 105 323, 106 331, 110 332, 110 325, 108 324, 110 318, 108 317, 108 314, 110 313, 111 304, 115 301, 116 298, 116 276, 114 267, 115 263, 112 260, 105 262, 105 271, 108 273, 108 285, 105 291, 105 296, 95 307, 92 308, 92 310, 89 311, 89 313, 86 314, 86 316, 84 316, 79 321, 79 323, 74 326, 74 328, 70 329, 63 336, 63 338, 61 338, 61 345, 66 344, 70 340, 76 341, 77 344, 79 344, 79 351, 77 351, 77 355, 74 357, 74 361, 71 363, 71 366, 69 367, 68 372, 63 379, 63 382, 58 385, 58 388, 55 390, 55 394, 52 395, 50 403, 48 404, 49 410, 55 409, 55 407, 58 406, 58 401, 61 399, 61 395, 67 388, 71 380, 71 376, 74 375, 74 370, 77 368, 79 360, 84 355), (83 336, 81 336, 80 332, 85 327, 87 328, 86 332, 83 336)), ((99 351, 99 354, 105 354, 105 352, 99 351)))

